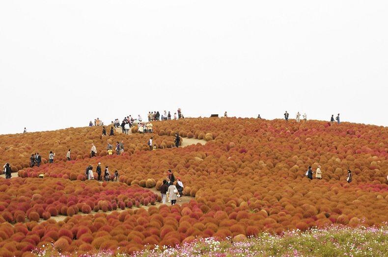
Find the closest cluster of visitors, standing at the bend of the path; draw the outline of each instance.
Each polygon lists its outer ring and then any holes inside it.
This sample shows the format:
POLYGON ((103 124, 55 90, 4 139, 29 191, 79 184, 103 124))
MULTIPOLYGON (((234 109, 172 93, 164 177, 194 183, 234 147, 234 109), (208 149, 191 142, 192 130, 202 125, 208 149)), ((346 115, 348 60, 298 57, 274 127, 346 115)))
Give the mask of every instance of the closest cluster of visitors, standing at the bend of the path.
POLYGON ((180 178, 176 179, 176 185, 174 185, 175 177, 171 170, 168 170, 167 177, 163 180, 163 184, 160 187, 160 193, 162 196, 162 204, 166 204, 166 198, 171 205, 176 204, 176 200, 182 197, 183 183, 180 178))

